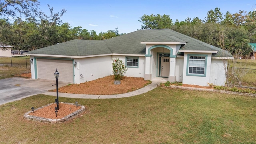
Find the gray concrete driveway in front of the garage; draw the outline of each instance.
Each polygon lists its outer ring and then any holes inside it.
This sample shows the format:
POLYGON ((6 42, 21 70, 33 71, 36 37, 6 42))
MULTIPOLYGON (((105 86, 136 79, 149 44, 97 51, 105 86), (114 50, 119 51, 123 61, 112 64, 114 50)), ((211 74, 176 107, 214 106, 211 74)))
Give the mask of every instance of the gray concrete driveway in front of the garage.
MULTIPOLYGON (((0 80, 0 105, 56 89, 56 80, 5 78, 0 80), (54 85, 54 86, 52 86, 54 85)), ((69 83, 58 82, 58 87, 69 83)))

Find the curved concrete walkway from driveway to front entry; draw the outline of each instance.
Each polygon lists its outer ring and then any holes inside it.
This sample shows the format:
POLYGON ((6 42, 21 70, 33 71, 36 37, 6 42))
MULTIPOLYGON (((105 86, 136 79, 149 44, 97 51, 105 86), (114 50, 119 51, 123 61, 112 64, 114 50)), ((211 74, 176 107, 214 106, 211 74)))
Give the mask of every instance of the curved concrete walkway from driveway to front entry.
MULTIPOLYGON (((58 93, 59 97, 65 97, 65 98, 90 98, 90 99, 104 99, 104 98, 125 98, 130 96, 136 96, 139 94, 144 94, 150 90, 153 90, 160 84, 160 82, 152 82, 151 84, 140 88, 138 90, 135 90, 133 92, 128 92, 125 94, 113 94, 113 95, 92 95, 92 94, 68 94, 68 93, 58 93)), ((57 96, 56 92, 44 92, 42 94, 50 95, 50 96, 57 96)))

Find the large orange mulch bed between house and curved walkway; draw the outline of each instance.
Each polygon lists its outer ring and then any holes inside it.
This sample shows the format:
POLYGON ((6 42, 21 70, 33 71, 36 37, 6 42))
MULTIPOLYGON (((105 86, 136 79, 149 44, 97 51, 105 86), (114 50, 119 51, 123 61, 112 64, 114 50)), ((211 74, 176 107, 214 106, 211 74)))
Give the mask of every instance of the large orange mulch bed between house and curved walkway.
MULTIPOLYGON (((106 76, 90 82, 70 84, 59 88, 58 92, 96 95, 124 94, 143 88, 149 83, 144 78, 124 77, 120 85, 115 85, 114 76, 106 76)), ((53 91, 56 92, 56 90, 53 91)))

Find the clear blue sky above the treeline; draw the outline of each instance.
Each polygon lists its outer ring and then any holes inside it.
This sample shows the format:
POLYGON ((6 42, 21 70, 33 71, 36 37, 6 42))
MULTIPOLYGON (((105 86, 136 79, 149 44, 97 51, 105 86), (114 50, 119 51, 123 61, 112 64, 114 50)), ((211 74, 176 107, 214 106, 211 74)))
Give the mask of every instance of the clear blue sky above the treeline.
POLYGON ((47 4, 60 12, 67 12, 61 18, 72 28, 95 30, 96 33, 118 28, 119 33, 134 32, 141 28, 138 22, 144 14, 170 15, 173 22, 198 17, 201 20, 209 10, 220 8, 222 14, 227 11, 234 14, 239 10, 252 11, 255 0, 38 0, 40 9, 49 12, 47 4))

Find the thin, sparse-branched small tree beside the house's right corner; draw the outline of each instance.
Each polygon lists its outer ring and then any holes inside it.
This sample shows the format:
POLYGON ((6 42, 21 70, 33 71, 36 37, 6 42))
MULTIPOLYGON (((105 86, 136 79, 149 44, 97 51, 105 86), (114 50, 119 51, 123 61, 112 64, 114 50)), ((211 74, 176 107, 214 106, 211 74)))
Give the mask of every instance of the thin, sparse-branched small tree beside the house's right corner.
POLYGON ((230 29, 230 27, 226 27, 219 29, 218 45, 222 48, 224 54, 223 57, 225 58, 223 59, 223 68, 225 70, 226 84, 228 87, 232 85, 240 86, 242 84, 243 77, 248 72, 248 69, 246 69, 246 59, 244 60, 244 63, 242 63, 239 58, 242 55, 246 56, 245 53, 248 50, 248 41, 245 39, 246 36, 244 33, 245 31, 237 28, 230 29), (238 42, 236 42, 238 38, 234 38, 235 34, 242 36, 242 40, 238 40, 238 42), (234 60, 227 59, 226 52, 224 50, 231 51, 234 56, 234 60))

